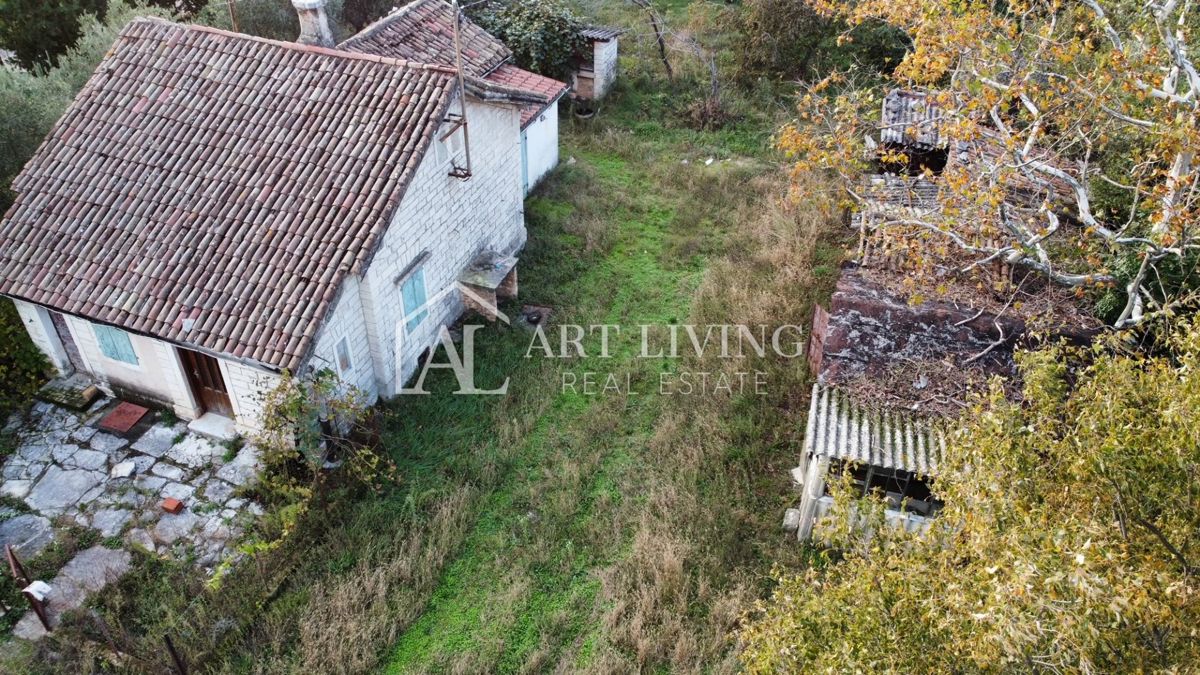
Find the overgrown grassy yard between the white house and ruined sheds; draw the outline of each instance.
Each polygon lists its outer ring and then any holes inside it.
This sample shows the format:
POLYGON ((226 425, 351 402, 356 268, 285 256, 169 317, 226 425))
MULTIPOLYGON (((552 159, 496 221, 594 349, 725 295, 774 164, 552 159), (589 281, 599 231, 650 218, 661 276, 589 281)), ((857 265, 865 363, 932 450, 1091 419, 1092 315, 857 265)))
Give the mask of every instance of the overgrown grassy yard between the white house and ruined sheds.
MULTIPOLYGON (((564 118, 564 166, 527 203, 522 301, 552 306, 552 325, 806 324, 834 280, 836 217, 820 183, 811 204, 786 202, 779 107, 731 90, 737 115, 695 131, 691 73, 668 85, 652 43, 622 48, 617 92, 593 120, 564 118)), ((114 644, 125 668, 164 668, 163 634, 193 668, 233 671, 736 668, 740 610, 773 562, 799 563, 776 519, 802 359, 641 359, 636 334, 607 359, 594 338, 584 359, 527 359, 529 340, 476 340, 476 381, 509 377, 508 396, 455 396, 434 374, 433 395, 380 408, 398 471, 380 491, 269 513, 257 540, 290 534, 248 544, 216 586, 137 556, 41 649, 80 670, 114 644), (766 395, 656 393, 665 372, 733 369, 764 371, 766 395), (564 392, 583 371, 638 393, 564 392)))

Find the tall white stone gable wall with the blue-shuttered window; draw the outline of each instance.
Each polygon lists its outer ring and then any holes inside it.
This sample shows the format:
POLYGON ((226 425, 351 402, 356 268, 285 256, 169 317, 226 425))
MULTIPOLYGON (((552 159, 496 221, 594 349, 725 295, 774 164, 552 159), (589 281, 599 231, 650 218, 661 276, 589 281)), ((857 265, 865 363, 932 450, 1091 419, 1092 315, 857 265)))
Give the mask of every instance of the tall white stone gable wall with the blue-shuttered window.
POLYGON ((360 304, 380 395, 395 394, 415 372, 418 357, 436 341, 438 328, 462 313, 452 286, 467 264, 482 251, 510 253, 524 245, 518 109, 468 98, 467 119, 472 178, 446 175, 449 166, 431 149, 361 280, 360 304), (442 297, 407 334, 397 277, 422 253, 426 295, 442 297))

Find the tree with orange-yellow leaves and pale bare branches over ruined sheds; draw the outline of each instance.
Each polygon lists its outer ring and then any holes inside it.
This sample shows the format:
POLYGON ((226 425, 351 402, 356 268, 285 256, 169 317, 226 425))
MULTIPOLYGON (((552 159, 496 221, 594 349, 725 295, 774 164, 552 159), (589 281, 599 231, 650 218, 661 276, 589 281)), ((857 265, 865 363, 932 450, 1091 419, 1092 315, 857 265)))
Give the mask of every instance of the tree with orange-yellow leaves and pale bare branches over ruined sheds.
POLYGON ((808 88, 779 137, 797 171, 845 178, 870 216, 864 235, 916 237, 960 271, 1004 262, 1114 288, 1121 327, 1181 301, 1200 249, 1196 2, 810 1, 912 42, 894 78, 920 98, 918 124, 883 125, 883 94, 853 86, 851 71, 808 88), (908 142, 887 142, 898 133, 908 142), (922 135, 943 153, 936 162, 913 151, 922 135), (881 166, 934 185, 936 201, 880 208, 864 175, 881 166))

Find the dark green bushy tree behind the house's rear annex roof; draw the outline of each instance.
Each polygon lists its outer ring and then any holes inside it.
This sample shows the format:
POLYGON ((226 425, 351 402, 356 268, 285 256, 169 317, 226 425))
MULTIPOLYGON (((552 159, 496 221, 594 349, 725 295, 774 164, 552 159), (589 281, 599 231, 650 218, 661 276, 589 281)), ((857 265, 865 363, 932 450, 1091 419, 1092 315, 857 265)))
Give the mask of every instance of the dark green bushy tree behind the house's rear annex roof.
POLYGON ((474 17, 512 49, 517 65, 565 79, 584 48, 583 20, 559 0, 509 0, 486 5, 474 17))

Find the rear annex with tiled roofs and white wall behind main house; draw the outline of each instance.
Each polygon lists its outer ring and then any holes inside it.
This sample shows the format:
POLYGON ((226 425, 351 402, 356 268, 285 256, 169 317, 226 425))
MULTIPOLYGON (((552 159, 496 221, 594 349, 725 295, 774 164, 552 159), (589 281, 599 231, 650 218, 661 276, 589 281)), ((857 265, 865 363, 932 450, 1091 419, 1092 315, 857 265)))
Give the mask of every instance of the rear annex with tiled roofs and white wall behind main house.
MULTIPOLYGON (((338 49, 457 67, 455 8, 444 0, 414 0, 364 28, 338 49)), ((466 16, 458 40, 463 73, 530 91, 542 100, 521 108, 521 180, 528 193, 558 166, 558 101, 566 83, 512 65, 512 50, 466 16)))

